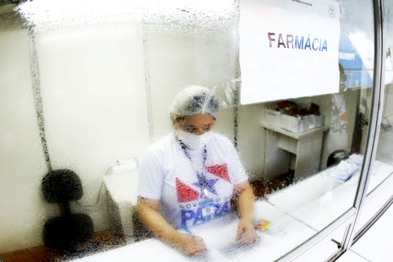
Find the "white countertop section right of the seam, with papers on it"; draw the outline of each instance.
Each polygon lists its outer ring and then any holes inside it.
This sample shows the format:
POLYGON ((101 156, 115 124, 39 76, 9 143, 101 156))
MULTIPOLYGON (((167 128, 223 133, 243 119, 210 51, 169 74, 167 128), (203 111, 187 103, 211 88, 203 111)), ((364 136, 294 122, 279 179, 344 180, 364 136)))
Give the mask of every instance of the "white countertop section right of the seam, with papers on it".
MULTIPOLYGON (((353 206, 359 183, 359 172, 345 182, 325 177, 326 172, 329 169, 271 194, 268 202, 311 228, 322 230, 353 206)), ((392 166, 375 161, 367 194, 392 172, 392 166)))

